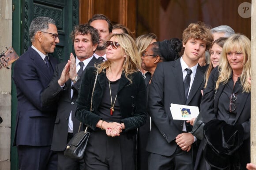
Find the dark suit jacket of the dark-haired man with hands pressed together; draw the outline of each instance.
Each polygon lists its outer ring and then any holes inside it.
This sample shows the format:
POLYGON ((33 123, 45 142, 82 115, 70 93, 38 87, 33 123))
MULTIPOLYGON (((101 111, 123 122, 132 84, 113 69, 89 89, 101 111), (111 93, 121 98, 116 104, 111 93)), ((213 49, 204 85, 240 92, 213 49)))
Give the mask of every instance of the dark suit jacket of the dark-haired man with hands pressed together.
MULTIPOLYGON (((97 59, 93 56, 87 67, 93 66, 97 59)), ((78 91, 81 84, 81 79, 71 86, 71 80, 65 83, 63 88, 58 84, 61 72, 63 71, 66 63, 60 63, 56 66, 53 80, 46 87, 42 93, 43 105, 47 106, 51 103, 58 104, 58 112, 55 120, 53 131, 53 143, 51 150, 64 151, 67 145, 68 138, 68 117, 72 111, 73 132, 78 132, 79 121, 75 118, 75 101, 78 96, 78 91), (73 97, 71 98, 71 89, 73 89, 73 97)), ((81 76, 82 77, 82 76, 81 76)), ((83 126, 81 127, 83 130, 83 126)))

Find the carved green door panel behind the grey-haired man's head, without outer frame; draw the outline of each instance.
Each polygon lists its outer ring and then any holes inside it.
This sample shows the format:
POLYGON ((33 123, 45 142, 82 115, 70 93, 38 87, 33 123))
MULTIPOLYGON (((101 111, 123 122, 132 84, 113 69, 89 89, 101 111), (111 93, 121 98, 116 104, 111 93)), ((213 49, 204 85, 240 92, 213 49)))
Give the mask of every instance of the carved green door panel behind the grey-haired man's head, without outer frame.
POLYGON ((53 18, 58 29, 60 43, 56 45, 54 57, 60 62, 68 60, 72 52, 70 33, 78 24, 78 0, 26 0, 24 4, 24 49, 31 45, 28 35, 30 22, 38 16, 53 18), (26 22, 27 21, 27 22, 26 22))

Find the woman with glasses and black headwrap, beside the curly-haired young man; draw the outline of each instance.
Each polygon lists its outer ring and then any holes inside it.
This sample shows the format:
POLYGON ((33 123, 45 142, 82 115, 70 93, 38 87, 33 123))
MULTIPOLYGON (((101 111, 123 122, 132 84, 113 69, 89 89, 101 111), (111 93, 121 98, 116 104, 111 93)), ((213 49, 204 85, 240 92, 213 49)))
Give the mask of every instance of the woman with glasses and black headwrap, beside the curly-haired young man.
MULTIPOLYGON (((171 40, 164 40, 161 42, 151 43, 142 54, 141 67, 151 74, 154 74, 159 62, 173 61, 179 58, 179 52, 182 48, 182 41, 177 38, 171 40)), ((151 80, 147 87, 147 94, 149 92, 151 80)), ((137 170, 147 170, 148 152, 146 151, 147 139, 151 129, 151 119, 147 114, 147 121, 143 127, 138 129, 138 154, 137 154, 137 170)))

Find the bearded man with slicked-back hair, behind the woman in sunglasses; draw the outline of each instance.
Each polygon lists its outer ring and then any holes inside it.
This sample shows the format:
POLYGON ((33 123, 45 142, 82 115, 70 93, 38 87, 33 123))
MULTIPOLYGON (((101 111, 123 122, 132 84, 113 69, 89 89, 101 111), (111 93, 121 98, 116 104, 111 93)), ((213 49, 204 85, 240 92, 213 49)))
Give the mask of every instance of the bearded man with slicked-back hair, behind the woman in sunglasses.
POLYGON ((106 47, 105 42, 108 40, 109 36, 112 34, 112 23, 109 18, 103 14, 95 14, 90 18, 88 22, 91 26, 98 30, 100 40, 98 47, 94 52, 94 56, 102 61, 105 61, 106 58, 106 47))

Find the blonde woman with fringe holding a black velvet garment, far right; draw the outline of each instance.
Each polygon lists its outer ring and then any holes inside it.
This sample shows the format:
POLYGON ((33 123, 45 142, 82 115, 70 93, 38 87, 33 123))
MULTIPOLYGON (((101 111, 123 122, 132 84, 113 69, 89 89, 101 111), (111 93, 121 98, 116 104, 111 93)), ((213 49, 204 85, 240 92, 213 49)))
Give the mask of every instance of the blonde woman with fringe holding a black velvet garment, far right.
POLYGON ((226 40, 221 58, 211 72, 200 105, 205 123, 203 170, 246 170, 250 162, 250 40, 233 34, 226 40))

